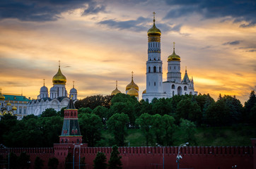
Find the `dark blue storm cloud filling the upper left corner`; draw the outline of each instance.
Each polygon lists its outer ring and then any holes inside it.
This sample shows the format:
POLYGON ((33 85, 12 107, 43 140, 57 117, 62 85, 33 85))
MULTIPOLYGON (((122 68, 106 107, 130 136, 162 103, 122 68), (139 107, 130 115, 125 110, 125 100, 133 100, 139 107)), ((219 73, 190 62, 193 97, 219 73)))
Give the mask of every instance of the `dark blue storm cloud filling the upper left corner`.
POLYGON ((59 14, 75 8, 85 7, 86 13, 98 13, 104 10, 91 0, 1 0, 0 20, 4 18, 17 18, 24 21, 57 20, 59 14))

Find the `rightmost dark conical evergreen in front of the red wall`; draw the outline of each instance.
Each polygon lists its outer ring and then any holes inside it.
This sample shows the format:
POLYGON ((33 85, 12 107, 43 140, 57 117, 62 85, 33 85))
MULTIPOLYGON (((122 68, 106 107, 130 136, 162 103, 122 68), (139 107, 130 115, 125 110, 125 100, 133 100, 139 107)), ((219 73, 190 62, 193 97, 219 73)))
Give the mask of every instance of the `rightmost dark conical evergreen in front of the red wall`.
POLYGON ((108 161, 108 169, 121 169, 122 162, 121 158, 122 156, 119 156, 120 152, 117 150, 117 146, 112 146, 112 152, 110 154, 110 160, 108 161))

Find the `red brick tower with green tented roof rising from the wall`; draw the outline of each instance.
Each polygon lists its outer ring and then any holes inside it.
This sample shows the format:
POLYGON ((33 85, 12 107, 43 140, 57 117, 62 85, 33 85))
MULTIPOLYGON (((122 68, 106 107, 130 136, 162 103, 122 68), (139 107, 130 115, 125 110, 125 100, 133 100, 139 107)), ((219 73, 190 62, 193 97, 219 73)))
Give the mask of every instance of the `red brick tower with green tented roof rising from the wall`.
POLYGON ((64 122, 62 134, 59 136, 60 144, 78 144, 82 143, 82 136, 78 124, 78 110, 75 108, 73 100, 69 100, 69 104, 64 110, 64 122))

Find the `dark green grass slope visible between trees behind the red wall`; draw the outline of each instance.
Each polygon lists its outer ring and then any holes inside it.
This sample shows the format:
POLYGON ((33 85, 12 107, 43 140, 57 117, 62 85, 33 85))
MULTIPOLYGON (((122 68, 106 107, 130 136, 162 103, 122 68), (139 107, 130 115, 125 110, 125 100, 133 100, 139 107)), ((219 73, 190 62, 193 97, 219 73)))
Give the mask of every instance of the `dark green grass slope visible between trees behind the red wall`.
MULTIPOLYGON (((144 135, 139 129, 127 130, 125 140, 126 146, 146 146, 144 135)), ((177 130, 174 134, 179 137, 181 133, 177 130)), ((250 139, 256 137, 256 127, 237 125, 234 127, 197 127, 194 134, 197 146, 252 146, 250 139)), ((174 138, 173 146, 178 146, 182 140, 174 138)), ((114 137, 108 131, 103 131, 103 140, 99 146, 111 146, 114 144, 114 137)), ((154 146, 153 143, 150 146, 154 146)))

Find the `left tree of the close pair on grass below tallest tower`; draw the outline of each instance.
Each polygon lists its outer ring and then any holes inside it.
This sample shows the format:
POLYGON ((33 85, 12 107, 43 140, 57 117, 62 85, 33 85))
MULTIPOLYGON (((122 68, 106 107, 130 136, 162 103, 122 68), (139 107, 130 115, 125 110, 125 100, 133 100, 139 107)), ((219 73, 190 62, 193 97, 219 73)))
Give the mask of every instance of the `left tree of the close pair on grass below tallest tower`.
POLYGON ((136 124, 139 125, 141 133, 146 138, 146 146, 149 146, 149 142, 153 139, 151 133, 152 115, 143 113, 136 119, 136 124))

